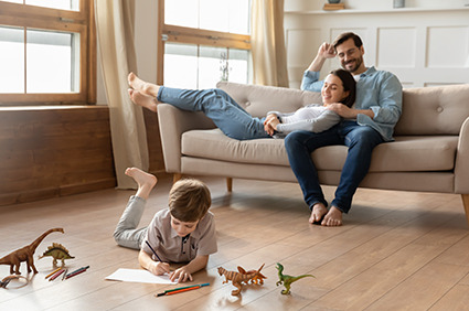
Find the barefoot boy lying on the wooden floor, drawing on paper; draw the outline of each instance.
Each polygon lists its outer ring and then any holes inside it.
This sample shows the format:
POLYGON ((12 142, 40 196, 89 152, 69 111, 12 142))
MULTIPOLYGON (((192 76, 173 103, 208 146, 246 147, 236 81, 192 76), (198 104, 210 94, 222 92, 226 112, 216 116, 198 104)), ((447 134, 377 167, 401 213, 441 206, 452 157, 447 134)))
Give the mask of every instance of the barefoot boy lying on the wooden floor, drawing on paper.
POLYGON ((145 204, 158 180, 137 168, 127 169, 126 174, 137 182, 138 190, 130 196, 114 232, 117 244, 140 249, 139 264, 152 274, 169 274, 171 281, 192 281, 192 274, 205 268, 209 256, 217 250, 215 222, 209 212, 209 189, 198 180, 175 182, 169 194, 169 207, 156 213, 148 227, 137 229, 145 204), (170 272, 166 261, 189 264, 170 272))

